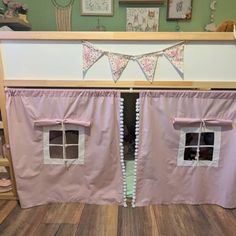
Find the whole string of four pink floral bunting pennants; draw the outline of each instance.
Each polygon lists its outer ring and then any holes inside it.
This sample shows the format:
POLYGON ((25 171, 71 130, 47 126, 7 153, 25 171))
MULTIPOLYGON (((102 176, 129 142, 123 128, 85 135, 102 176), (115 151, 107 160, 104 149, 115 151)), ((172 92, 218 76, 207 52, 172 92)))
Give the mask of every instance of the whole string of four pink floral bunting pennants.
POLYGON ((95 48, 88 42, 83 42, 83 77, 87 71, 103 55, 109 60, 113 80, 116 82, 121 77, 130 60, 136 61, 143 71, 146 79, 153 82, 160 56, 164 55, 173 65, 182 79, 184 79, 184 42, 180 42, 160 51, 146 53, 142 55, 127 55, 103 51, 95 48))

